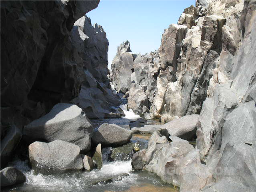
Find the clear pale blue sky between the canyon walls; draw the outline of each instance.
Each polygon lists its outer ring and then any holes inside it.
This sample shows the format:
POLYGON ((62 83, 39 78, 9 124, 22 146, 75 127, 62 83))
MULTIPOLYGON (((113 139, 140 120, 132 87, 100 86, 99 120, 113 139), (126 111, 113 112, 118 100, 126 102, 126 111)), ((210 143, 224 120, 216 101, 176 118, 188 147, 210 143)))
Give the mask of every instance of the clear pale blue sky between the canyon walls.
POLYGON ((107 33, 108 67, 117 47, 128 40, 133 53, 148 53, 160 47, 162 33, 177 23, 186 7, 196 1, 100 1, 86 15, 107 33))

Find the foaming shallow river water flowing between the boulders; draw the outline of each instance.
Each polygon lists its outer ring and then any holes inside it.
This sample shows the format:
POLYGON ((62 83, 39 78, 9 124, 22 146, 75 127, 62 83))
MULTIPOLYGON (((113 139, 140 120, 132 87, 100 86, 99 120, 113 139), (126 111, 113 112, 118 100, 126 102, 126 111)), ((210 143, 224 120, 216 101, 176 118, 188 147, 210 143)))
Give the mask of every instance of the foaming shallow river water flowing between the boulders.
MULTIPOLYGON (((129 122, 139 118, 132 110, 127 111, 126 105, 121 106, 125 117, 96 120, 92 123, 95 128, 103 123, 114 123, 124 128, 129 128, 129 122)), ((158 121, 148 121, 147 124, 159 124, 158 121)), ((140 142, 146 147, 150 135, 134 134, 131 142, 140 142)), ((104 154, 103 154, 104 155, 104 154)), ((147 171, 133 171, 131 160, 109 162, 103 161, 101 170, 79 172, 76 174, 63 174, 60 176, 34 175, 28 163, 16 159, 10 163, 20 169, 26 176, 26 183, 15 187, 1 189, 2 192, 176 192, 172 185, 164 183, 147 171), (95 181, 114 177, 114 181, 105 184, 94 184, 95 181)))

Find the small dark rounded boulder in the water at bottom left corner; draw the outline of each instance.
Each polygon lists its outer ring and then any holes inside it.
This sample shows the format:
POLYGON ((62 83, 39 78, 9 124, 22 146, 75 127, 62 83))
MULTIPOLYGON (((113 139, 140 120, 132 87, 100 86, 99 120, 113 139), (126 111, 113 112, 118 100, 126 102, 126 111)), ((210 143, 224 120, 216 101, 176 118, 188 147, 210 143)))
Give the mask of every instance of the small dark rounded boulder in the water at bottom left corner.
POLYGON ((26 176, 15 167, 6 167, 1 170, 1 187, 17 185, 26 182, 26 176))

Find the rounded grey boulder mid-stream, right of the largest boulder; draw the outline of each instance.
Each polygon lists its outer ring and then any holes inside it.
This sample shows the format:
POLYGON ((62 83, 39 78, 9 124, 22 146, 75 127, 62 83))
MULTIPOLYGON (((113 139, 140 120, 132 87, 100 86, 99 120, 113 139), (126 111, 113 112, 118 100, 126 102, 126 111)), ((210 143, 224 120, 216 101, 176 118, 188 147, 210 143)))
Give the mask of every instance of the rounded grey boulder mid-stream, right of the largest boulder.
POLYGON ((102 146, 120 146, 129 142, 132 132, 116 124, 103 123, 92 136, 94 144, 101 143, 102 146))

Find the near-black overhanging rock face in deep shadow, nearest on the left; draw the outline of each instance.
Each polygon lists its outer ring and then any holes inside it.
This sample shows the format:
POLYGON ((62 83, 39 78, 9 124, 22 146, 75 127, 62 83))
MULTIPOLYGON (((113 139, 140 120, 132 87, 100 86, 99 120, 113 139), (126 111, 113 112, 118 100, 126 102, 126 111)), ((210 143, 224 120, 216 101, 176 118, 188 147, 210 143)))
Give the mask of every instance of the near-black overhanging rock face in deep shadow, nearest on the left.
POLYGON ((77 50, 70 33, 74 22, 98 3, 1 2, 1 117, 9 113, 2 123, 22 128, 79 95, 77 50))

